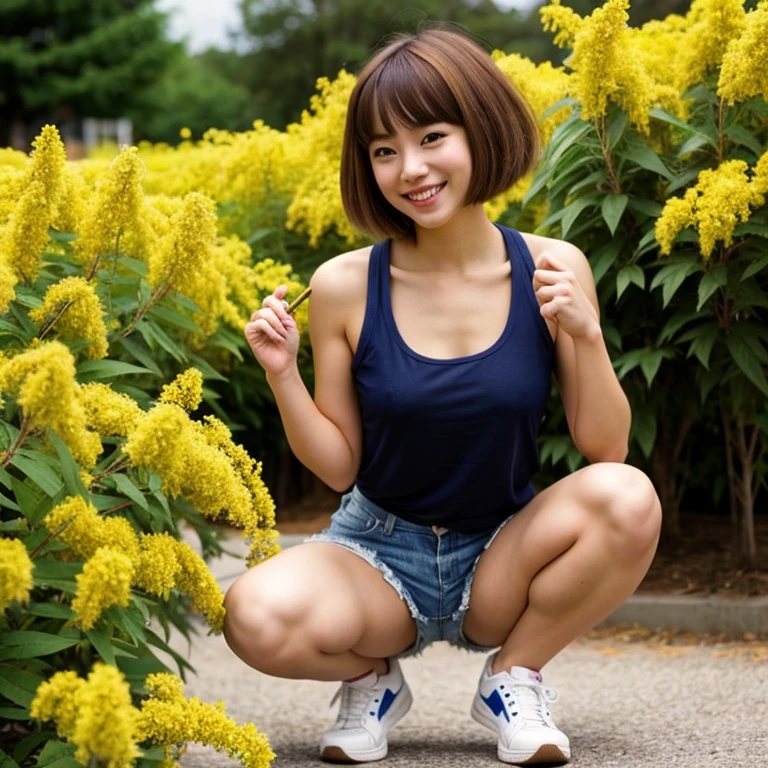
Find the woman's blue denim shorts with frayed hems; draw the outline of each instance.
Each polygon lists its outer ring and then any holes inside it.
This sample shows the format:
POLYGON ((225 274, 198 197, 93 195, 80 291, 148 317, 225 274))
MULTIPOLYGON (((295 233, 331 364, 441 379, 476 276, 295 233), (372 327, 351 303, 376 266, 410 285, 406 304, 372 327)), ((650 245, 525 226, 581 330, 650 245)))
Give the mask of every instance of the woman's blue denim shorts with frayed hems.
POLYGON ((494 648, 472 643, 462 627, 480 555, 512 517, 482 533, 458 533, 409 523, 354 487, 342 496, 330 527, 305 541, 345 547, 381 571, 394 587, 418 630, 416 642, 398 654, 399 658, 417 656, 438 640, 488 653, 494 648))

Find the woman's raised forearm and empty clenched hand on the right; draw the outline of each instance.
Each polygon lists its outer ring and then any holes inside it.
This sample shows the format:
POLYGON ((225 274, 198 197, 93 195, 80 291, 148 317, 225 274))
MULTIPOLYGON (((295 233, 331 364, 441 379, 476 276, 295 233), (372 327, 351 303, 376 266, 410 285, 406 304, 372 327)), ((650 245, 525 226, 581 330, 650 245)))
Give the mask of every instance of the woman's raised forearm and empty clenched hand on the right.
POLYGON ((556 321, 555 375, 571 437, 590 462, 623 462, 632 416, 605 347, 589 262, 552 241, 538 266, 534 290, 542 315, 556 321))

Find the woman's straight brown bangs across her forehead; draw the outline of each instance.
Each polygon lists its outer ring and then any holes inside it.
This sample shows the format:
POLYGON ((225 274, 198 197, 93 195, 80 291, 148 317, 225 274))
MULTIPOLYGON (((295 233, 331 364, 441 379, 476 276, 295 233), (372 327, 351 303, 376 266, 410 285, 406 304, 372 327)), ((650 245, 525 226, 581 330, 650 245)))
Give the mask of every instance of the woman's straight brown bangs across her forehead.
POLYGON ((377 118, 390 135, 398 125, 464 125, 461 108, 445 79, 432 64, 403 48, 367 80, 360 93, 357 129, 365 147, 376 135, 377 118))

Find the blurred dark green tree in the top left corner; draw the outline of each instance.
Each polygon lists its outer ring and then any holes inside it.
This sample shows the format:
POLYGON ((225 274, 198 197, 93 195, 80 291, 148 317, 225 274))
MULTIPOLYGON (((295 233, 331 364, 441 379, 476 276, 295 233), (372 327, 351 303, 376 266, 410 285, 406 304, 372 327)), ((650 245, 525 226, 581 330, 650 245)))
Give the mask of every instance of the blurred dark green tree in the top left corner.
POLYGON ((181 49, 154 3, 3 0, 0 146, 15 121, 123 116, 181 49))

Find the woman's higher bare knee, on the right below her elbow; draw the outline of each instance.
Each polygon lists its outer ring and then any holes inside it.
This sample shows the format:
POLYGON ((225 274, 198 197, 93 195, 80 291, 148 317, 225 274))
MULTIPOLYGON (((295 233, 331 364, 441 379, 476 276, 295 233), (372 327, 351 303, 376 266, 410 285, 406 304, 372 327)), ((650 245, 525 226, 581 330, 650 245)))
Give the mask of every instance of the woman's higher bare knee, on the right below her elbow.
POLYGON ((590 469, 592 506, 622 555, 647 555, 661 529, 661 503, 650 478, 628 464, 594 464, 590 469))

